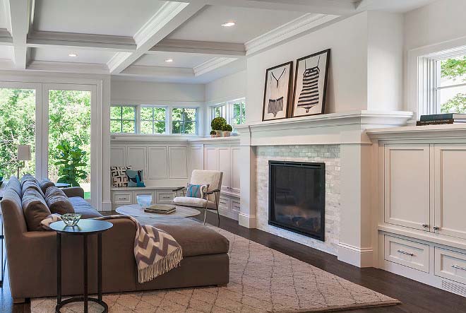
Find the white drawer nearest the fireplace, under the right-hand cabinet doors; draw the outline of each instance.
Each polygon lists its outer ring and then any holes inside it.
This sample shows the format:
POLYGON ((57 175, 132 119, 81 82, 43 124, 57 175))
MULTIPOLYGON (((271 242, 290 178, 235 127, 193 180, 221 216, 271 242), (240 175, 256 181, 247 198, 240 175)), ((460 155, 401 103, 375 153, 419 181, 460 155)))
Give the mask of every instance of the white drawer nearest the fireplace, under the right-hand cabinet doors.
POLYGON ((385 259, 429 273, 429 246, 385 235, 385 259))

